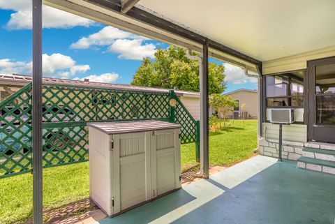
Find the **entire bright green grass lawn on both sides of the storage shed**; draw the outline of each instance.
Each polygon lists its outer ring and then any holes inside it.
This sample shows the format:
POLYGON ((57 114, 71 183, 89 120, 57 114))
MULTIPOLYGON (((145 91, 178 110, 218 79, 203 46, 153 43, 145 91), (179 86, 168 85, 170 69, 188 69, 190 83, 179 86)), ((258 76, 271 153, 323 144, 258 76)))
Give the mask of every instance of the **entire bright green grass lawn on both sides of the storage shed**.
MULTIPOLYGON (((232 165, 253 155, 257 147, 257 121, 228 121, 230 126, 211 132, 211 165, 232 165)), ((195 144, 181 146, 182 168, 197 165, 195 144)), ((43 172, 44 207, 61 207, 89 197, 89 164, 47 168, 43 172)), ((22 223, 32 215, 32 175, 0 179, 0 223, 22 223)), ((1 224, 2 224, 1 223, 1 224)))

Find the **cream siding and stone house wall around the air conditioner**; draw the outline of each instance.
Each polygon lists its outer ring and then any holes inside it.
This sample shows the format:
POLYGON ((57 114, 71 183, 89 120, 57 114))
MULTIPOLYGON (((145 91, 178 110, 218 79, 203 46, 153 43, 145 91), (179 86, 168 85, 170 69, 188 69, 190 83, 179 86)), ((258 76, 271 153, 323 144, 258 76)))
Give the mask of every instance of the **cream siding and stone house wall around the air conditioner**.
MULTIPOLYGON (((285 73, 307 68, 307 61, 335 56, 335 45, 303 54, 263 62, 263 74, 285 73)), ((308 100, 308 99, 305 99, 308 100)), ((271 114, 267 110, 267 120, 271 114)), ((295 109, 295 120, 304 121, 304 109, 295 109)), ((258 140, 258 150, 265 156, 278 157, 278 125, 263 123, 263 137, 258 140)), ((307 124, 283 126, 283 158, 297 160, 302 148, 309 147, 307 142, 307 124)))

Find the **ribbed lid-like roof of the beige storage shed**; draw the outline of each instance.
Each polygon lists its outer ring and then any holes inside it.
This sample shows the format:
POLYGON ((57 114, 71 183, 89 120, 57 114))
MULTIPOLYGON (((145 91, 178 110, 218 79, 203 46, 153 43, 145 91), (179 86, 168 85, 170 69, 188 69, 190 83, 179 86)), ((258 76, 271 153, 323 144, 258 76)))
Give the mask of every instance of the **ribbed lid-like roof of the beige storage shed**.
POLYGON ((135 133, 148 130, 181 128, 179 124, 156 120, 99 122, 89 123, 87 126, 101 130, 103 133, 108 135, 117 133, 135 133))

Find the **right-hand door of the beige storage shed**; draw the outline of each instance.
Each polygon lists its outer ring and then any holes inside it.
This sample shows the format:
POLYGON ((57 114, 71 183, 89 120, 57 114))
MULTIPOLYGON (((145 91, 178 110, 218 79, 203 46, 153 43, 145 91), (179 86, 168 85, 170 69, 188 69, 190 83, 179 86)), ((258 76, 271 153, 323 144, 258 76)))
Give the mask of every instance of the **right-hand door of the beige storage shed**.
POLYGON ((180 187, 180 145, 176 130, 154 131, 151 137, 152 197, 180 187))

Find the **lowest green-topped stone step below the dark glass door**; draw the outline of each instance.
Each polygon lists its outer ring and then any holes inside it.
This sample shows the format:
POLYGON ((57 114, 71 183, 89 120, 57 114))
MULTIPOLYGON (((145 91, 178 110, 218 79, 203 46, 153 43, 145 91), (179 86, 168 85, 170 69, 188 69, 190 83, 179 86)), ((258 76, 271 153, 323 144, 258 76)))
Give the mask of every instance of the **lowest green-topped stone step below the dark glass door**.
POLYGON ((334 161, 327 161, 327 160, 322 160, 318 158, 310 158, 306 156, 301 156, 297 160, 297 165, 299 168, 302 168, 302 169, 335 174, 335 162, 334 161))

